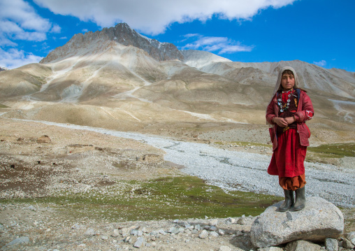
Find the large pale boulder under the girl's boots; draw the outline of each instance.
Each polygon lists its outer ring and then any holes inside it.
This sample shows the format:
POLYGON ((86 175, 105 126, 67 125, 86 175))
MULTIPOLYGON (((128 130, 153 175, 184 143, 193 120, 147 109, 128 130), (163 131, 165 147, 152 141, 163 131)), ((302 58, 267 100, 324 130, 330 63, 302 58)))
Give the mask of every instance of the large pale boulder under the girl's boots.
POLYGON ((268 248, 296 240, 324 241, 338 238, 344 230, 342 212, 319 197, 307 197, 303 210, 279 212, 282 201, 269 206, 254 220, 250 231, 252 243, 268 248))

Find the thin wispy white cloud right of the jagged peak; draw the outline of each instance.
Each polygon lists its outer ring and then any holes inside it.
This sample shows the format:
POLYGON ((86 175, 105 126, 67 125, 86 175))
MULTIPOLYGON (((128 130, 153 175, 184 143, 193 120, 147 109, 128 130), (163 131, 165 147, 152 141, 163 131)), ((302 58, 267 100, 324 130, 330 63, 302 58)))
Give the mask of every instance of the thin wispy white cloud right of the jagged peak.
POLYGON ((253 46, 241 45, 240 42, 233 41, 226 37, 202 36, 200 34, 187 34, 182 41, 191 41, 180 47, 181 50, 207 50, 218 54, 233 52, 250 52, 253 46))

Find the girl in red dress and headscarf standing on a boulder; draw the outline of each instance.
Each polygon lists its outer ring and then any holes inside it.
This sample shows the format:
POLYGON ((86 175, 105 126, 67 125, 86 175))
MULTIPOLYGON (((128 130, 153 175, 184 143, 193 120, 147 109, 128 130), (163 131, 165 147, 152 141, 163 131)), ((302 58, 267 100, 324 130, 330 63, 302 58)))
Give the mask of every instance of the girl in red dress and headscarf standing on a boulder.
POLYGON ((296 71, 284 67, 277 78, 273 98, 266 109, 266 121, 273 142, 273 157, 268 166, 270 175, 279 176, 284 189, 284 203, 279 210, 301 210, 305 207, 305 154, 310 129, 305 122, 314 114, 312 101, 298 85, 296 71), (294 191, 296 202, 294 203, 294 191))

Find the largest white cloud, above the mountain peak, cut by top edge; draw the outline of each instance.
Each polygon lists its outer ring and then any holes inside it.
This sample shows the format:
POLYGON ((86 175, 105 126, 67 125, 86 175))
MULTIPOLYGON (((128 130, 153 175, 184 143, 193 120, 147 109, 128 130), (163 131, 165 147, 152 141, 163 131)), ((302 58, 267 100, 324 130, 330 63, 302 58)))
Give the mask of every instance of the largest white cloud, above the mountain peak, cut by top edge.
MULTIPOLYGON (((19 0, 17 0, 19 1, 19 0)), ((53 13, 72 15, 82 21, 92 21, 101 27, 126 22, 145 34, 161 34, 173 22, 205 21, 217 15, 229 20, 248 20, 259 10, 280 8, 296 0, 34 0, 53 13)))

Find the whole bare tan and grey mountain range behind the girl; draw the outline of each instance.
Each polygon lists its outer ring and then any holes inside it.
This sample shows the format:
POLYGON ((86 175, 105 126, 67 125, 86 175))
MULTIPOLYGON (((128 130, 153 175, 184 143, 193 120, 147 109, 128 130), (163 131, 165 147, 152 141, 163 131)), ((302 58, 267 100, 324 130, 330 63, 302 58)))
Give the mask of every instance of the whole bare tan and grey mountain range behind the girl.
POLYGON ((2 71, 0 104, 13 108, 3 116, 120 130, 265 124, 277 73, 287 65, 312 98, 314 124, 353 130, 354 73, 298 60, 242 63, 179 51, 127 24, 76 34, 40 64, 2 71))

